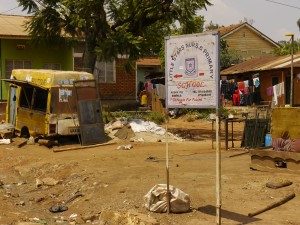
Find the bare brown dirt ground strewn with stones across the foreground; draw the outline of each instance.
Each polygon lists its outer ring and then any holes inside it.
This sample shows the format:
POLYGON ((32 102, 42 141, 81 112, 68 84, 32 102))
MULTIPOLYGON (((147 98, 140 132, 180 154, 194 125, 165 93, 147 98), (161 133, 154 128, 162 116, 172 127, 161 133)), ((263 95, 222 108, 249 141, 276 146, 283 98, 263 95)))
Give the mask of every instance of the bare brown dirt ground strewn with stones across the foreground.
MULTIPOLYGON (((235 134, 241 135, 242 125, 236 126, 235 134)), ((166 183, 165 143, 122 141, 57 153, 45 146, 11 144, 0 145, 0 224, 215 224, 211 124, 171 120, 169 128, 202 132, 197 141, 169 144, 170 184, 189 194, 190 212, 157 214, 144 207, 144 195, 155 184, 166 183), (121 144, 133 148, 116 150, 121 144), (76 193, 80 195, 67 204, 67 211, 49 211, 76 193)), ((243 150, 222 150, 222 224, 300 224, 299 174, 252 171, 249 155, 229 157, 239 152, 243 150), (267 188, 265 184, 273 180, 293 184, 267 188), (296 194, 291 201, 253 218, 247 216, 291 192, 296 194)))

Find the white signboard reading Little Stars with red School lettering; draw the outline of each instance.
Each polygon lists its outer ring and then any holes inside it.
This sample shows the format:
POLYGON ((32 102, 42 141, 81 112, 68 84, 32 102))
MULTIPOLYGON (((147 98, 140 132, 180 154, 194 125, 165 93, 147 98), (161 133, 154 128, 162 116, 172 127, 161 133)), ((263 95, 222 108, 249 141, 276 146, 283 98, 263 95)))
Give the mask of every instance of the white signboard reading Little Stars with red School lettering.
POLYGON ((216 108, 219 35, 203 33, 165 40, 168 108, 216 108))

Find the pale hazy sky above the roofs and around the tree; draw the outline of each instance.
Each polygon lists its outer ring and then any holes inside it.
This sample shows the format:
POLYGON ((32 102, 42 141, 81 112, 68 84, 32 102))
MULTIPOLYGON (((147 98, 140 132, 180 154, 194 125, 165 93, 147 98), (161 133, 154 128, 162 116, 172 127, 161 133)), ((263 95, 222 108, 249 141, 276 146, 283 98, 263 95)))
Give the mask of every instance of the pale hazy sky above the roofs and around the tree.
MULTIPOLYGON (((293 33, 295 39, 300 38, 297 26, 297 20, 300 18, 300 0, 210 0, 210 2, 213 6, 209 6, 206 11, 200 11, 206 23, 212 21, 227 26, 247 18, 248 21, 253 21, 252 26, 274 41, 288 41, 289 38, 285 36, 287 33, 293 33)), ((24 14, 21 8, 13 9, 17 6, 16 0, 0 0, 0 13, 24 14)))

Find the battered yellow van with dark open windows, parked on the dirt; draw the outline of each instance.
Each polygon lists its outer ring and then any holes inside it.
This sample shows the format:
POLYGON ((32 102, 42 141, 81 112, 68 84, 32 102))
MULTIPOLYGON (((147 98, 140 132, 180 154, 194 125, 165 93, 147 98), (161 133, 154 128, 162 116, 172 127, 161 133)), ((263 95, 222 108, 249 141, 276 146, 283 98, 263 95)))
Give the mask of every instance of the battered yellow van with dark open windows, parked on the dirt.
POLYGON ((23 136, 78 134, 74 81, 86 72, 17 69, 10 79, 6 120, 23 136))

